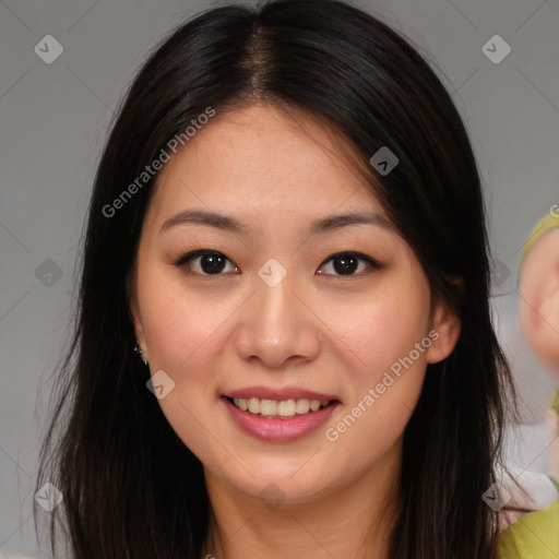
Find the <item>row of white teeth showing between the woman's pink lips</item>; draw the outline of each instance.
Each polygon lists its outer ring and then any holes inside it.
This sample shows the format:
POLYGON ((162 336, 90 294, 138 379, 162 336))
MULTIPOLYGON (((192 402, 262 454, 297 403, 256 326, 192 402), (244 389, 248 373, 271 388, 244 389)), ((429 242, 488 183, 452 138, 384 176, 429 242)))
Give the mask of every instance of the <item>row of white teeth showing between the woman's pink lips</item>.
POLYGON ((294 417, 314 414, 325 407, 338 404, 335 399, 311 400, 307 397, 288 400, 270 400, 260 397, 224 396, 230 404, 242 412, 269 419, 293 419, 294 417))

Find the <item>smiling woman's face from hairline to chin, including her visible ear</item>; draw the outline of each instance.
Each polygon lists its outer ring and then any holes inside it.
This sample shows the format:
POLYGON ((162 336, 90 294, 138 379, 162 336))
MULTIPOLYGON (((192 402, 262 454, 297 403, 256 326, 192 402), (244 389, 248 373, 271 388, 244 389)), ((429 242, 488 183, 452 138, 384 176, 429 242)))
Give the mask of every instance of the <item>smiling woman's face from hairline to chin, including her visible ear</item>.
POLYGON ((166 164, 131 311, 206 480, 305 502, 395 475, 426 366, 460 325, 340 139, 295 115, 217 111, 166 164), (226 218, 180 217, 194 211, 226 218))

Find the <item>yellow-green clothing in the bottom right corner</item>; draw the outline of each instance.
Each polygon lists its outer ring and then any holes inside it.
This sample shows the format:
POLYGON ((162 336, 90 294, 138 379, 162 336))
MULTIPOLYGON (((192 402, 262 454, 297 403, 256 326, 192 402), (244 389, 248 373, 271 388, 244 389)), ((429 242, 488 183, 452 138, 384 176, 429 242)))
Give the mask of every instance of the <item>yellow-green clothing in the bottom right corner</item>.
POLYGON ((528 512, 499 537, 499 559, 559 557, 559 501, 528 512))

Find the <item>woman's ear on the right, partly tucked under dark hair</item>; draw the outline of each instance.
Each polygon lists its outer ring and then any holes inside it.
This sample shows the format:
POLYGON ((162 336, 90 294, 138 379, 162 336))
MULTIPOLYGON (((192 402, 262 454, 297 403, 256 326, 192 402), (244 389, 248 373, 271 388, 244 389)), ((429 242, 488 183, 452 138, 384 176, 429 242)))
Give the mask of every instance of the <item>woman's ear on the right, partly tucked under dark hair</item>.
POLYGON ((433 304, 430 317, 429 337, 432 344, 427 349, 427 362, 445 359, 454 349, 462 330, 462 321, 454 308, 442 298, 433 304))

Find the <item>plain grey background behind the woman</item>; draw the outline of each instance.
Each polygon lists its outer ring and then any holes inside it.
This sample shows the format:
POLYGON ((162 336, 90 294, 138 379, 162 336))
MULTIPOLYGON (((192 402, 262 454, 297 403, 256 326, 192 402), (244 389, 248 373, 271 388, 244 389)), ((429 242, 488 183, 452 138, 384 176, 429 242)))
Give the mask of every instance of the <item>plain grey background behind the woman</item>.
MULTIPOLYGON (((0 555, 48 557, 31 515, 37 451, 112 111, 162 35, 218 3, 0 1, 0 555), (34 51, 46 35, 63 46, 51 64, 34 51), (58 269, 60 277, 45 274, 58 269)), ((355 3, 427 53, 466 122, 487 195, 499 328, 516 359, 525 420, 535 423, 552 380, 515 338, 515 288, 531 228, 559 203, 559 2, 355 3), (500 63, 483 51, 496 34, 512 49, 500 63)))

